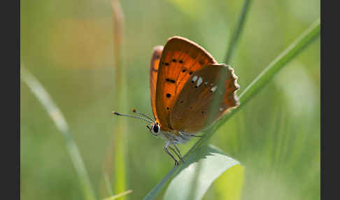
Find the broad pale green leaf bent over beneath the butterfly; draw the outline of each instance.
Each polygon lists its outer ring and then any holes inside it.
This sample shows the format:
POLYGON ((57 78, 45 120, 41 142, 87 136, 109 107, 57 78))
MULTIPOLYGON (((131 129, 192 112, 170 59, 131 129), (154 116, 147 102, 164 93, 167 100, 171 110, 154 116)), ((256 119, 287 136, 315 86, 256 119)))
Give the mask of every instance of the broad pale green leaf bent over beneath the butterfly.
MULTIPOLYGON (((238 161, 228 157, 213 145, 202 146, 180 165, 178 175, 171 181, 164 199, 202 199, 213 181, 232 166, 243 166, 238 161)), ((243 170, 235 173, 236 179, 243 178, 243 170)), ((237 185, 241 187, 241 185, 237 185)), ((240 192, 240 188, 236 188, 240 192)), ((234 194, 239 196, 238 194, 234 194)))

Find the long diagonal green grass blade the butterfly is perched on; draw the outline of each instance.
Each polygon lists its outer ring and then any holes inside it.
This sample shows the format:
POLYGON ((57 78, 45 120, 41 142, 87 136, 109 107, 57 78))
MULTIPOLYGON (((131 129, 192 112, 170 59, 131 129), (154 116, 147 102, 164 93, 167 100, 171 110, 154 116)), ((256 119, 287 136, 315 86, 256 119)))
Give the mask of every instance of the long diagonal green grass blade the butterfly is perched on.
MULTIPOLYGON (((229 115, 225 115, 224 117, 221 117, 218 122, 215 122, 212 127, 210 127, 207 131, 204 131, 204 137, 199 139, 197 143, 194 143, 192 148, 185 154, 184 158, 188 159, 192 153, 197 150, 201 145, 204 145, 208 142, 208 139, 215 134, 215 131, 218 130, 224 124, 227 122, 227 120, 232 117, 238 110, 240 110, 250 99, 252 99, 256 94, 258 94, 265 85, 269 84, 269 80, 275 76, 276 73, 280 69, 285 66, 288 62, 290 62, 293 58, 295 58, 297 55, 299 55, 299 52, 302 52, 306 46, 308 46, 312 41, 314 41, 318 36, 320 35, 320 19, 316 20, 309 29, 304 31, 304 33, 299 36, 290 46, 288 46, 287 49, 285 49, 276 59, 274 59, 273 62, 269 64, 269 66, 260 73, 255 80, 253 80, 252 83, 246 88, 246 90, 243 91, 243 93, 240 95, 240 101, 241 104, 239 107, 232 110, 229 115)), ((167 182, 172 178, 173 176, 176 176, 178 174, 178 166, 174 166, 169 173, 167 173, 166 176, 160 181, 160 183, 157 183, 153 190, 151 190, 144 199, 155 199, 157 194, 162 190, 164 185, 167 184, 167 182)))

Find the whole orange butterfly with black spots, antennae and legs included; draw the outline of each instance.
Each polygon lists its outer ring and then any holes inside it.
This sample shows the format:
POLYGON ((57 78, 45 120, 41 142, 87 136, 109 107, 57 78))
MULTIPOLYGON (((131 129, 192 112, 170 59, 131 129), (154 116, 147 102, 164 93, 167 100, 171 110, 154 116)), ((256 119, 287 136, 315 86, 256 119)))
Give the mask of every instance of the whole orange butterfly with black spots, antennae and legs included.
POLYGON ((146 127, 167 141, 164 151, 178 165, 184 160, 176 145, 201 137, 199 131, 239 106, 237 76, 232 67, 218 64, 204 48, 180 36, 154 48, 149 73, 155 119, 134 108, 138 115, 113 114, 150 122, 146 127))

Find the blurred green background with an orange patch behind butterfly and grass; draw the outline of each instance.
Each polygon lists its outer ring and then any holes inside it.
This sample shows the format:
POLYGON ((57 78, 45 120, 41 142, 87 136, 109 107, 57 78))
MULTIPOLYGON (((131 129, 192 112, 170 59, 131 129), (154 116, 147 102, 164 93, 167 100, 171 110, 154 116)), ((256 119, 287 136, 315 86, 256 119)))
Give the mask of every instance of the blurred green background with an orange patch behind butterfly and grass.
MULTIPOLYGON (((128 108, 152 115, 150 56, 171 36, 189 38, 223 62, 242 3, 122 1, 128 108)), ((229 63, 239 77, 238 94, 318 17, 316 0, 253 1, 229 63)), ((101 199, 109 196, 104 173, 111 182, 114 176, 108 162, 117 99, 113 31, 108 0, 21 1, 21 62, 64 113, 101 199)), ((22 82, 20 110, 21 198, 83 199, 64 138, 22 82)), ((142 199, 173 161, 163 151, 164 141, 150 136, 143 122, 127 122, 127 190, 133 190, 127 197, 142 199)), ((245 166, 241 199, 320 199, 320 38, 225 123, 211 143, 245 166)), ((213 185, 205 199, 223 199, 223 183, 213 185)))

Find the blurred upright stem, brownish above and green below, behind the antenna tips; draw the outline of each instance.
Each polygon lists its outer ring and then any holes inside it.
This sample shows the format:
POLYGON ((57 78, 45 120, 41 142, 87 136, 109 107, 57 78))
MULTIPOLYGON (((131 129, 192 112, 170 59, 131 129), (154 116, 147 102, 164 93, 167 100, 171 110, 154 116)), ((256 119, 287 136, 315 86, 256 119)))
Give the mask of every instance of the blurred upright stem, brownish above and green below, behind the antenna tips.
MULTIPOLYGON (((122 67, 122 41, 124 15, 119 0, 111 0, 112 22, 113 22, 113 68, 114 68, 114 110, 125 110, 126 90, 125 90, 125 69, 122 67)), ((111 110, 110 110, 111 111, 111 110)), ((104 162, 104 173, 107 174, 107 179, 113 176, 113 192, 118 194, 126 191, 126 146, 127 146, 127 122, 124 117, 115 118, 113 134, 110 138, 110 144, 106 150, 106 159, 104 162)), ((125 199, 125 197, 122 197, 125 199)))

